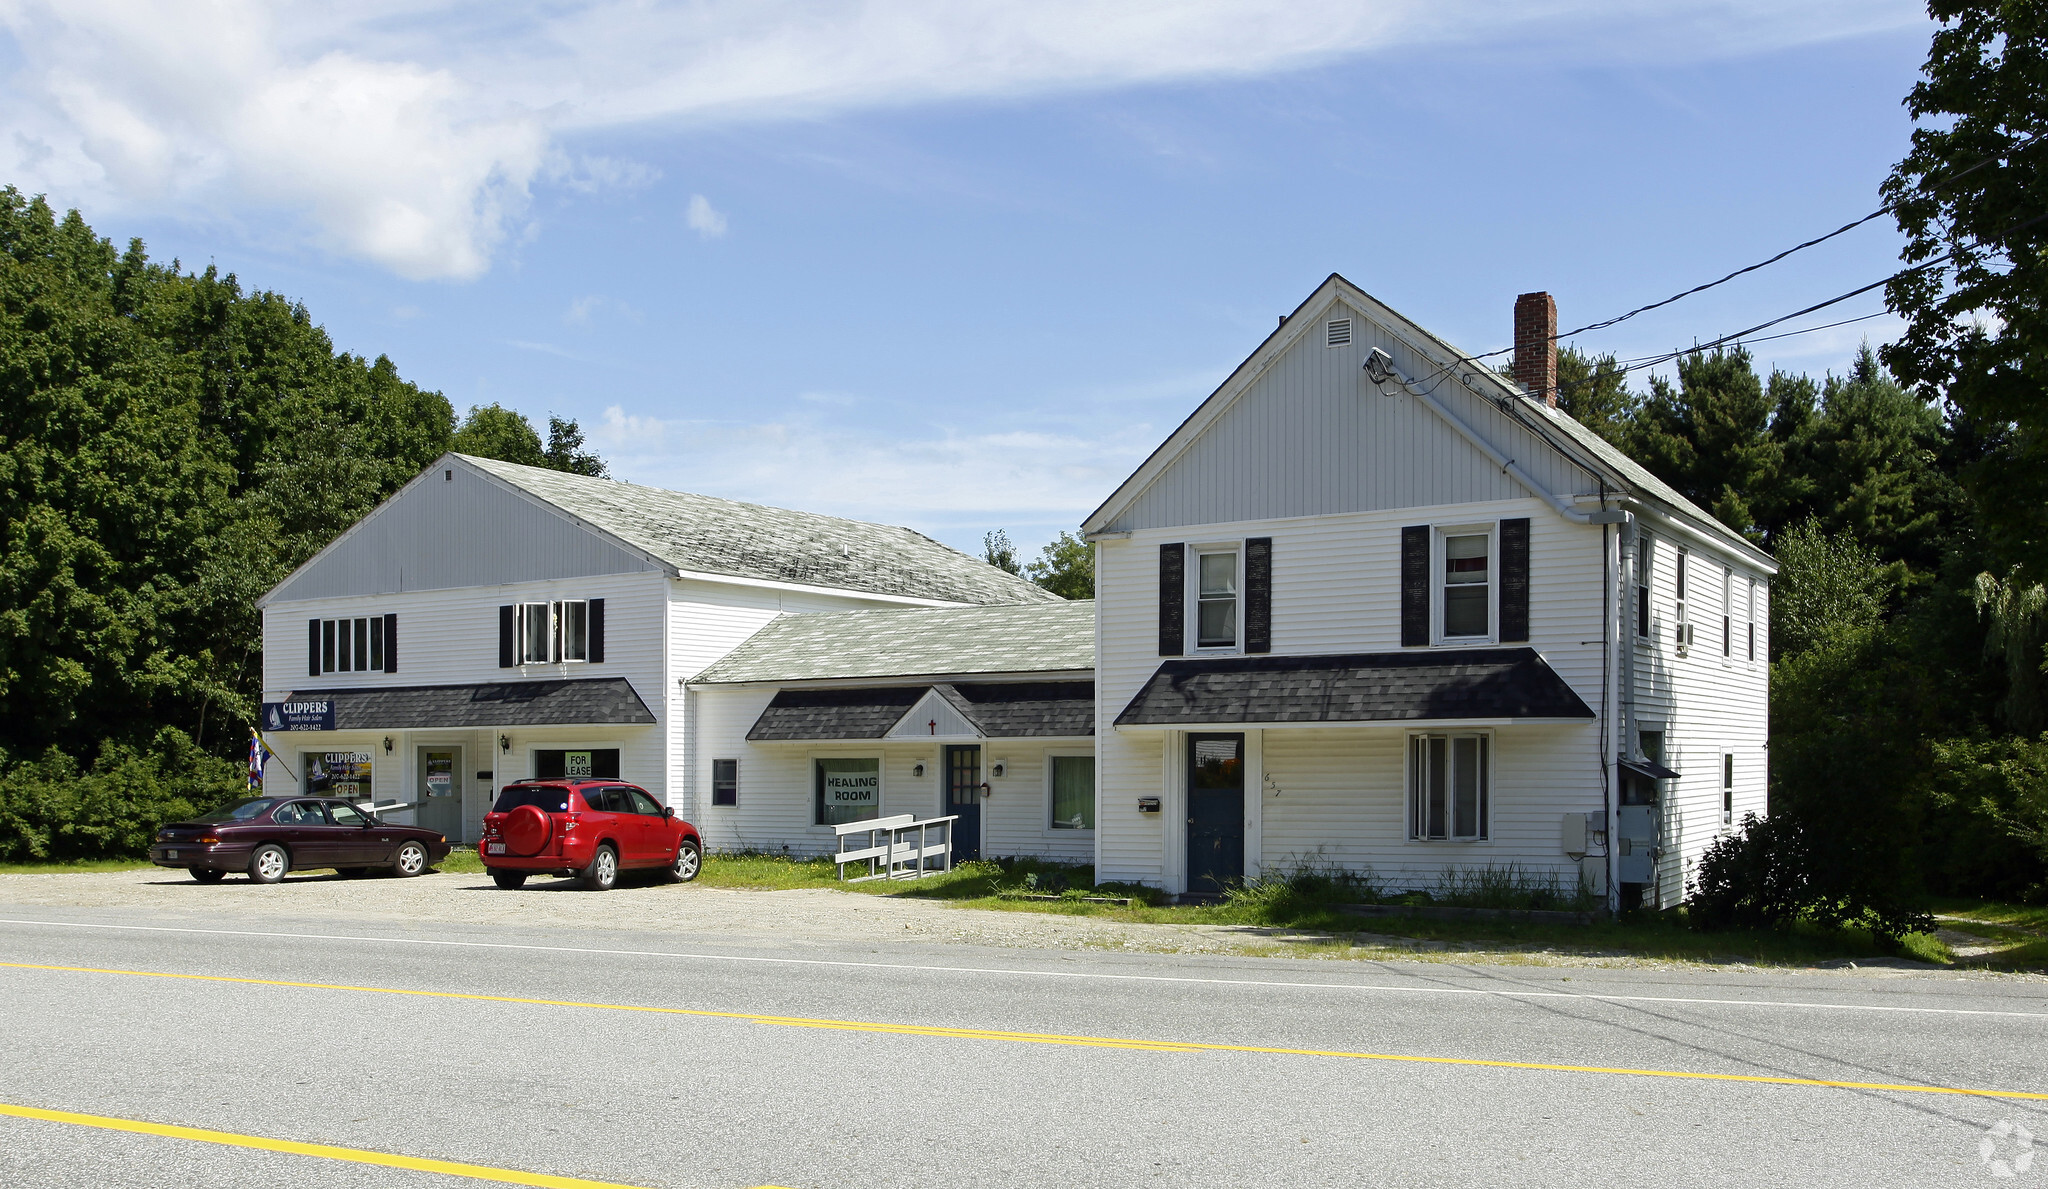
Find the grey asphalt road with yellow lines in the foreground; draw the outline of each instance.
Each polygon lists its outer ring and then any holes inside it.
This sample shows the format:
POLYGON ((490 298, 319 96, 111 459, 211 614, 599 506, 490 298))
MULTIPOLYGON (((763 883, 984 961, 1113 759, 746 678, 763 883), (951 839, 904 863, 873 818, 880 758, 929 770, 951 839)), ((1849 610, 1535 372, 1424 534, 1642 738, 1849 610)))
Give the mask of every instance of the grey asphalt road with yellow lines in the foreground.
POLYGON ((2042 980, 0 915, 8 1187, 2048 1185, 2042 980))

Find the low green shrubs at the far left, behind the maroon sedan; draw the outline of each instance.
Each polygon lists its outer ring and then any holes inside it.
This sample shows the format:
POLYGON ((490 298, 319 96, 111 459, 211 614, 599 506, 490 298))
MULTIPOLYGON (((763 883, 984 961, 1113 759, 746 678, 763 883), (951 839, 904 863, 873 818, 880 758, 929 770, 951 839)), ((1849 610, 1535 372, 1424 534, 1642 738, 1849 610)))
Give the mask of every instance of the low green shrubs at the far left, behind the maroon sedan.
POLYGON ((141 749, 102 745, 90 769, 55 747, 23 761, 0 753, 0 862, 139 857, 166 821, 244 794, 240 763, 170 726, 141 749))

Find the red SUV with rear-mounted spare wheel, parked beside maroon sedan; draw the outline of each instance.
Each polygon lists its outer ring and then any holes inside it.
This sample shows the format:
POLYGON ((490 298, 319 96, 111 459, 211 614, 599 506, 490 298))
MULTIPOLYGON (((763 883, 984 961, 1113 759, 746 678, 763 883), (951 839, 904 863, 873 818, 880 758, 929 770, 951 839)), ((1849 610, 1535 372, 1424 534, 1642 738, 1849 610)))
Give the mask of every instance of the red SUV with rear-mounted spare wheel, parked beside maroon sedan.
POLYGON ((516 888, 526 876, 578 876, 604 892, 625 868, 668 868, 676 882, 694 880, 705 839, 631 784, 522 780, 504 786, 483 814, 477 853, 500 888, 516 888))

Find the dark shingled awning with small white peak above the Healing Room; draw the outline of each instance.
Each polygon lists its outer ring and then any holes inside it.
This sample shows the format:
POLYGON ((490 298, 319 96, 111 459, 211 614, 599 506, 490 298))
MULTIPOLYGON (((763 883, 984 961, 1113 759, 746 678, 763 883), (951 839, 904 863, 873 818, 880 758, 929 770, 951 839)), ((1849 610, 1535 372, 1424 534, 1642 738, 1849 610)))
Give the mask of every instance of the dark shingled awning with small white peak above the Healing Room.
POLYGON ((1096 733, 1094 681, 952 681, 864 690, 782 690, 748 731, 756 743, 805 739, 915 739, 899 729, 911 710, 932 712, 934 735, 981 739, 1073 739, 1096 733), (936 702, 928 702, 934 698, 936 702), (936 706, 944 706, 946 731, 936 706), (956 720, 952 718, 956 716, 956 720))

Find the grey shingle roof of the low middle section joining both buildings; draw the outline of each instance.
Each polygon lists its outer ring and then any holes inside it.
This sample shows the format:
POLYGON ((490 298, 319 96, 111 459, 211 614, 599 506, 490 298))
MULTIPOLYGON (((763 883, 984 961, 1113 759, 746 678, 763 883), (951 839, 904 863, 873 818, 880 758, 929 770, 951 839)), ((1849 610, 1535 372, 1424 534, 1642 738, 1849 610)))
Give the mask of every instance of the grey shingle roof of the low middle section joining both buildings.
POLYGON ((1096 604, 1055 600, 782 616, 690 684, 1059 673, 1094 667, 1096 604))

